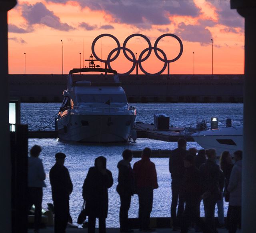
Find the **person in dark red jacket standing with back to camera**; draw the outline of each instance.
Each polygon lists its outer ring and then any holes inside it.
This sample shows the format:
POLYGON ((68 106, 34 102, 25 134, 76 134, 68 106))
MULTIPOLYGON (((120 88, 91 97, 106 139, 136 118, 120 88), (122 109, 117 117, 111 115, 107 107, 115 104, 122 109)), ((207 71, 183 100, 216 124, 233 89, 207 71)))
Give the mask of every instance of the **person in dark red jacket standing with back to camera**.
POLYGON ((153 190, 158 188, 156 166, 150 161, 151 149, 146 147, 142 151, 139 161, 134 163, 137 193, 139 197, 139 224, 141 231, 154 231, 150 229, 150 213, 153 205, 153 190))

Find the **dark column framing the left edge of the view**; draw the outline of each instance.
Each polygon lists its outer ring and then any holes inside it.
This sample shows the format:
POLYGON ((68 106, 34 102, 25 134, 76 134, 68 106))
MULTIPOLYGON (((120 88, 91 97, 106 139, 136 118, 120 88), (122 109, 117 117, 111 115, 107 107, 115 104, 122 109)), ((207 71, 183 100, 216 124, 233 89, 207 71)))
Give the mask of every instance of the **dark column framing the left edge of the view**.
POLYGON ((1 232, 11 232, 11 161, 9 132, 8 93, 8 28, 7 11, 16 5, 16 0, 0 0, 0 211, 1 232))

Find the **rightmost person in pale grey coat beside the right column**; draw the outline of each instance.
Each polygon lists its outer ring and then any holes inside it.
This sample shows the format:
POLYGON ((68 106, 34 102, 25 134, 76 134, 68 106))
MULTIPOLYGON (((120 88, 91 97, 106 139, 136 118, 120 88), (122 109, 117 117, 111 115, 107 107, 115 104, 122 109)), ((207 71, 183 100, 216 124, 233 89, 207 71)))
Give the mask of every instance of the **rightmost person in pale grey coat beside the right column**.
POLYGON ((230 175, 228 191, 230 192, 229 209, 230 223, 228 224, 229 233, 235 233, 236 229, 241 226, 241 205, 242 205, 242 151, 234 152, 236 161, 230 175))

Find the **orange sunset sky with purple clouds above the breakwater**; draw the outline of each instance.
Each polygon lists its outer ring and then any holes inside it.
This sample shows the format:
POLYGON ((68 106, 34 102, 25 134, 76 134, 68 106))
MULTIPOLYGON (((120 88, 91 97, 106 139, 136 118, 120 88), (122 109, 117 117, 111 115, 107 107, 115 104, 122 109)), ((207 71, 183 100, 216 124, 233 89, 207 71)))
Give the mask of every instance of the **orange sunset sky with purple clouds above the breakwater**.
MULTIPOLYGON (((83 57, 88 59, 91 54, 92 41, 104 33, 114 35, 121 46, 134 33, 146 35, 152 46, 162 34, 177 35, 184 51, 170 64, 170 74, 193 74, 193 52, 195 74, 211 74, 213 39, 213 73, 244 74, 244 19, 230 9, 228 0, 18 0, 8 12, 8 31, 10 74, 24 74, 24 52, 26 74, 62 74, 60 40, 64 43, 64 74, 68 74, 72 68, 80 68, 79 53, 83 66, 83 57)), ((148 44, 135 37, 126 47, 139 56, 148 44)), ((114 48, 116 42, 104 37, 96 42, 95 51, 106 59, 114 48)), ((180 50, 172 37, 160 40, 158 48, 168 59, 180 50)), ((163 65, 154 52, 142 63, 150 73, 163 65)), ((111 66, 124 73, 132 63, 121 51, 111 66)))

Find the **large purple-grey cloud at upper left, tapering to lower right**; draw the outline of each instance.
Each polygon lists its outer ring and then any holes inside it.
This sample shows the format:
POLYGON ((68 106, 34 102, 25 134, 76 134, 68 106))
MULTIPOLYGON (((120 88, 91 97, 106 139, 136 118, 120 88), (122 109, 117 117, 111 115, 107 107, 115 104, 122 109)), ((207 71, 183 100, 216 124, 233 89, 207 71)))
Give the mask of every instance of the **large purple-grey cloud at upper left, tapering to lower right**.
POLYGON ((60 31, 74 29, 72 26, 60 22, 60 18, 53 11, 48 10, 42 2, 37 2, 34 5, 22 4, 22 16, 30 26, 41 24, 60 31))

